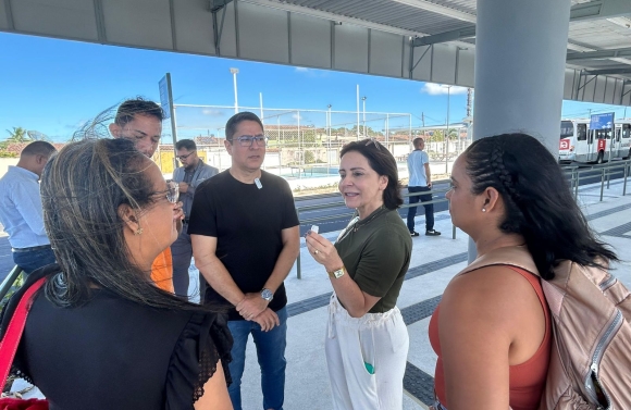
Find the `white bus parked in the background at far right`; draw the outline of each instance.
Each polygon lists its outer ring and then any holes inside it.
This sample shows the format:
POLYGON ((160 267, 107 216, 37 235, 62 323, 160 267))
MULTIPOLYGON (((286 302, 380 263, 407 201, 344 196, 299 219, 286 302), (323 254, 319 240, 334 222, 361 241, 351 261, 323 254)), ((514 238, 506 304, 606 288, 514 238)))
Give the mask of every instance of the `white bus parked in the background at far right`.
POLYGON ((616 135, 590 129, 590 120, 561 120, 559 162, 603 163, 631 156, 631 119, 616 121, 616 135))

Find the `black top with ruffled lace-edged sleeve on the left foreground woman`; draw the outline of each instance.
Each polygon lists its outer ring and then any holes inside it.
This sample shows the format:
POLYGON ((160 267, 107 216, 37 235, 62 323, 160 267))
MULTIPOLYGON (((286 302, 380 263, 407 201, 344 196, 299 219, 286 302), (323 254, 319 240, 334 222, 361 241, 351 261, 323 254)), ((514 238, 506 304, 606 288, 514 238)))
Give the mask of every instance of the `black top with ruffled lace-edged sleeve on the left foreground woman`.
POLYGON ((86 305, 58 308, 40 293, 15 368, 50 409, 193 409, 232 336, 225 316, 147 308, 100 289, 86 305))

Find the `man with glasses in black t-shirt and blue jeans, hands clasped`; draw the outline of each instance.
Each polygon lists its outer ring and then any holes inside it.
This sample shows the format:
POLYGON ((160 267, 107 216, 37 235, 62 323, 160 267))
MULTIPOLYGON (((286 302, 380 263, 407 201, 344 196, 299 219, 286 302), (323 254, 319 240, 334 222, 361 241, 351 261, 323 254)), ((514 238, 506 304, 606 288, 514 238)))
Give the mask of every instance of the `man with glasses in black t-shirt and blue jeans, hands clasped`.
POLYGON ((300 250, 298 216, 287 182, 261 170, 267 138, 259 117, 235 114, 225 134, 232 165, 198 186, 188 234, 195 264, 210 285, 205 300, 231 306, 228 393, 235 410, 242 409, 249 334, 257 344, 263 407, 282 410, 287 333, 283 281, 300 250))

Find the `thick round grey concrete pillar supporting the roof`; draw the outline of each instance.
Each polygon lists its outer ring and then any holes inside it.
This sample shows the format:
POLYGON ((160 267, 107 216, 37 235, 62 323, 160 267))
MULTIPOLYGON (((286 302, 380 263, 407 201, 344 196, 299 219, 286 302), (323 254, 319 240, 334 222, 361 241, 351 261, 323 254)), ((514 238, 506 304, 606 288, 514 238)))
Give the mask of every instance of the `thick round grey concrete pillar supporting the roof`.
POLYGON ((570 5, 478 0, 473 139, 523 132, 558 154, 570 5))

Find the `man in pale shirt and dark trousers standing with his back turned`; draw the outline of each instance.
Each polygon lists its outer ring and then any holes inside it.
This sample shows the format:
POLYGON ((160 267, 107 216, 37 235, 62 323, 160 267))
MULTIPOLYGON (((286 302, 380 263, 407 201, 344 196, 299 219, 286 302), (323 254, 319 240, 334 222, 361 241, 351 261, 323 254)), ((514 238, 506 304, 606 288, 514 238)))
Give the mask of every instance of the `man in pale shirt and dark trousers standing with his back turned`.
MULTIPOLYGON (((432 173, 430 172, 430 157, 423 149, 425 141, 423 138, 415 138, 412 141, 415 150, 408 157, 408 171, 410 181, 408 183, 408 192, 425 192, 432 190, 432 173)), ((409 197, 410 204, 429 202, 432 200, 432 194, 421 194, 409 197)), ((423 203, 425 208, 425 235, 438 236, 441 233, 434 229, 434 204, 423 203)), ((418 207, 408 208, 408 229, 411 236, 419 236, 415 231, 415 216, 417 215, 418 207)))

